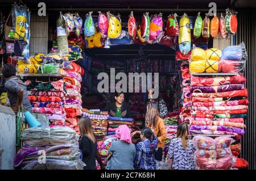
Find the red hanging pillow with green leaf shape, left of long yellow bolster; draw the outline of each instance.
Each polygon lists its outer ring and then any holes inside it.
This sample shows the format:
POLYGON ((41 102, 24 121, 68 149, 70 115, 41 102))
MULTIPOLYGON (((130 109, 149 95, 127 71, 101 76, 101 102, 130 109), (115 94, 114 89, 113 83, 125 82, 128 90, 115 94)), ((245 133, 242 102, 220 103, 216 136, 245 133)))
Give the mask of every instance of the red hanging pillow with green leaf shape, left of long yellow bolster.
POLYGON ((179 23, 177 22, 177 14, 170 15, 166 24, 166 35, 170 37, 179 36, 179 23))

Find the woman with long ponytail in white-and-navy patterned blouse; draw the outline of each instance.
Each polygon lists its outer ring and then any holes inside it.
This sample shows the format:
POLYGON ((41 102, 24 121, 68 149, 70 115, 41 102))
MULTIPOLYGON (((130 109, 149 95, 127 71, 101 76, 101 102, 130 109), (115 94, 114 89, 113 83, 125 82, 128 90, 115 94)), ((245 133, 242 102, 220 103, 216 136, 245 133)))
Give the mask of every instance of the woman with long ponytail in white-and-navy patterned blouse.
POLYGON ((172 159, 173 170, 194 170, 195 161, 192 140, 188 139, 188 125, 181 123, 177 127, 177 137, 170 141, 168 157, 172 159))

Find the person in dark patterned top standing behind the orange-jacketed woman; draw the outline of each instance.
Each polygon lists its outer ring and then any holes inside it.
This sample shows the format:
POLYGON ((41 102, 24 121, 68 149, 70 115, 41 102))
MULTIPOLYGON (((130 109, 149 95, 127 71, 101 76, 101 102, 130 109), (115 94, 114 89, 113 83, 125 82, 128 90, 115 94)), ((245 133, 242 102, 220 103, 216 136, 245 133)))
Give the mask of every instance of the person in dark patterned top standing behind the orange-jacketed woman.
POLYGON ((158 96, 158 98, 156 99, 153 99, 152 98, 153 93, 154 91, 152 89, 148 91, 148 99, 147 99, 146 105, 150 102, 156 103, 159 116, 163 119, 168 113, 166 102, 164 102, 163 98, 161 98, 160 96, 158 96))

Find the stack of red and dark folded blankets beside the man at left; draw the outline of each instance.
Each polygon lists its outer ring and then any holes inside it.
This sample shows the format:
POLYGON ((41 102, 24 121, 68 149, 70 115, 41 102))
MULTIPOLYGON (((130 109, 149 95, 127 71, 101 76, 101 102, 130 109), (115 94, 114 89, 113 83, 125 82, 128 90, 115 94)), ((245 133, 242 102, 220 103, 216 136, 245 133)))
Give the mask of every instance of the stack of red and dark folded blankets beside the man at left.
POLYGON ((51 122, 50 127, 64 127, 66 118, 64 81, 37 82, 28 80, 25 83, 33 112, 46 114, 51 122))

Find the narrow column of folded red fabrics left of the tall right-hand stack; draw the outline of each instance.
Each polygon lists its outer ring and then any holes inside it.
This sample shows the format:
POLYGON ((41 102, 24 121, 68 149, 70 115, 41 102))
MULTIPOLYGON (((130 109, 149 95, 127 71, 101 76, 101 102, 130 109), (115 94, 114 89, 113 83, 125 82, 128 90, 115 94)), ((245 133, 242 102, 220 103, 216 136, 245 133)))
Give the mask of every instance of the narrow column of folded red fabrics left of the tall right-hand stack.
POLYGON ((191 117, 191 93, 190 93, 190 88, 191 88, 191 75, 189 73, 189 62, 184 61, 181 64, 181 71, 182 71, 182 83, 181 86, 183 87, 183 94, 181 96, 182 101, 182 107, 180 110, 180 120, 182 123, 187 123, 189 124, 189 120, 191 117))

